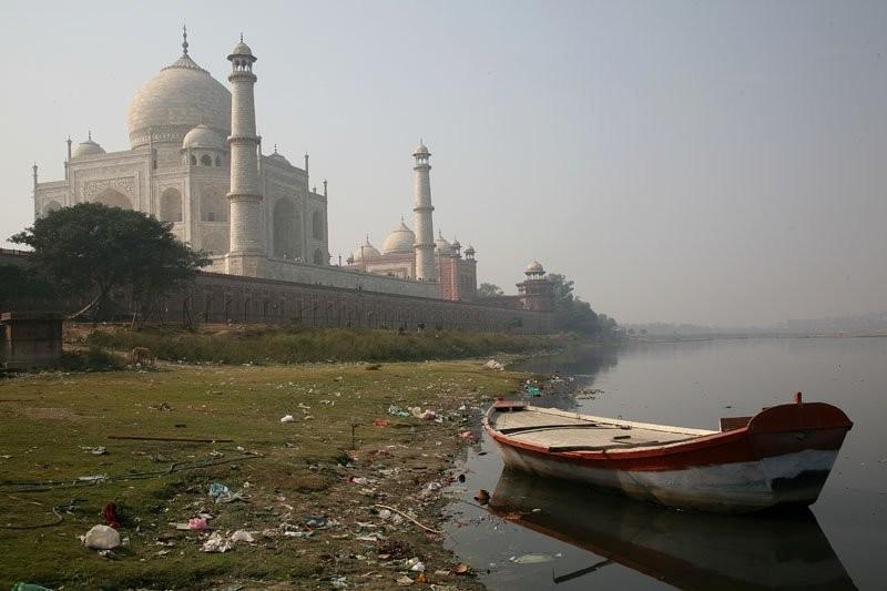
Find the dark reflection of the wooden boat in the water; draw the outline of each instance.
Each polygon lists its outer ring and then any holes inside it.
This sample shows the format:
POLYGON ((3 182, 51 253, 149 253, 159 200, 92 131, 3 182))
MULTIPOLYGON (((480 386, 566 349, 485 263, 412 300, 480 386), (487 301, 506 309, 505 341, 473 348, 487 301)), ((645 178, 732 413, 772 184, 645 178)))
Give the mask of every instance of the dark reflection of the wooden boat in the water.
POLYGON ((808 509, 722 516, 677 511, 504 470, 490 510, 681 589, 856 589, 808 509), (540 509, 533 512, 534 509, 540 509))

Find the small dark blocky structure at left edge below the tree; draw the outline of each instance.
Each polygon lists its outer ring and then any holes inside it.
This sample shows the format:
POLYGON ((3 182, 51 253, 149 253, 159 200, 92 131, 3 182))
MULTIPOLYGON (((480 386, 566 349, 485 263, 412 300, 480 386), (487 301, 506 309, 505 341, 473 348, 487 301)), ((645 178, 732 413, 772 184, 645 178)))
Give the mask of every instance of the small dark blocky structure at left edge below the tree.
POLYGON ((62 356, 64 316, 39 312, 0 314, 2 355, 7 369, 29 369, 57 364, 62 356))

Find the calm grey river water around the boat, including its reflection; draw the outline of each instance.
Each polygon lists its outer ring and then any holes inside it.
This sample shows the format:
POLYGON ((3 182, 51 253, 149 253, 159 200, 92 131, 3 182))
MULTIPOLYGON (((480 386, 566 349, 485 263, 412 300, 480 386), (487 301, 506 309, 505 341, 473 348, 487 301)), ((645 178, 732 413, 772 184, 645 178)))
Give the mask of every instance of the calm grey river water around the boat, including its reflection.
POLYGON ((819 500, 776 517, 674 511, 503 473, 483 439, 450 491, 449 533, 491 589, 887 589, 887 338, 644 345, 523 368, 602 389, 533 399, 594 415, 717 429, 801 390, 854 428, 819 500), (492 510, 472 505, 481 488, 492 510))

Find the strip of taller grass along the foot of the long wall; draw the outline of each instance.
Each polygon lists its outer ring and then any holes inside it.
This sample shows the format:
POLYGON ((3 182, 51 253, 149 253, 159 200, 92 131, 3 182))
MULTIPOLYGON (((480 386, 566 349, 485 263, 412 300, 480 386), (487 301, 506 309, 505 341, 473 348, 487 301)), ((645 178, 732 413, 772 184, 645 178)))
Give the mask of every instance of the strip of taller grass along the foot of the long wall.
POLYGON ((497 353, 552 349, 554 337, 501 333, 405 333, 357 329, 238 328, 217 333, 95 330, 91 345, 129 350, 147 347, 161 359, 184 361, 305 363, 424 361, 473 358, 497 353))

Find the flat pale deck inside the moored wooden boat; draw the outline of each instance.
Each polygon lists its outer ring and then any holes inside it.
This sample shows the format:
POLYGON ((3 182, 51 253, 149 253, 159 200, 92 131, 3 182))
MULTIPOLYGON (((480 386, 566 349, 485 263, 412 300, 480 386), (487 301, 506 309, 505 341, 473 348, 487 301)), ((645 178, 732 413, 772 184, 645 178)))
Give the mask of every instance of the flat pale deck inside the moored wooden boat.
POLYGON ((552 408, 492 411, 489 425, 516 441, 548 451, 606 451, 687 441, 717 431, 591 417, 552 408))

